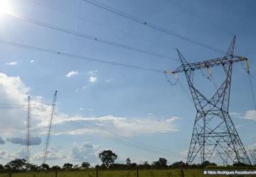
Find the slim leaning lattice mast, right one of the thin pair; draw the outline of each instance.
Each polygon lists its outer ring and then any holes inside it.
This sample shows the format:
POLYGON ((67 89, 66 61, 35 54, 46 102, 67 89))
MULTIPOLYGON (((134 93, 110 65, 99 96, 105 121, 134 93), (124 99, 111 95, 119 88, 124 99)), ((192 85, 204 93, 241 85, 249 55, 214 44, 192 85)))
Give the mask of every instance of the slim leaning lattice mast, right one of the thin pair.
POLYGON ((46 136, 46 144, 45 144, 44 156, 43 156, 43 164, 46 164, 46 160, 47 160, 48 146, 49 146, 49 142, 50 142, 50 130, 51 130, 52 123, 53 123, 53 114, 54 114, 56 101, 57 101, 57 91, 55 91, 55 93, 54 93, 53 103, 51 105, 50 119, 49 119, 49 124, 48 124, 48 132, 47 132, 47 136, 46 136))

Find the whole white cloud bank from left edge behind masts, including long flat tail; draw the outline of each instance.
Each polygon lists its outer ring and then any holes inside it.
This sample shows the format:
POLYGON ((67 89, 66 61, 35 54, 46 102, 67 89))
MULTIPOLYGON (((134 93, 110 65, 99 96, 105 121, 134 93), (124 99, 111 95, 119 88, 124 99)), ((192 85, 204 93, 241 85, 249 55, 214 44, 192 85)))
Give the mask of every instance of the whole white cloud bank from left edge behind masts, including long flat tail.
MULTIPOLYGON (((3 103, 21 104, 27 103, 29 88, 26 87, 21 79, 6 74, 0 73, 0 97, 3 103)), ((36 97, 38 100, 41 97, 36 97)), ((36 101, 35 101, 36 102, 36 101)), ((51 107, 45 103, 40 106, 35 106, 31 111, 33 117, 33 130, 38 135, 45 135, 48 127, 48 119, 51 107)), ((11 109, 2 110, 0 112, 0 132, 1 135, 8 135, 9 137, 18 137, 17 135, 26 135, 26 109, 11 109)), ((149 135, 154 133, 174 132, 176 127, 177 117, 166 119, 158 118, 123 118, 114 115, 106 115, 102 117, 82 117, 72 116, 65 113, 55 112, 53 118, 53 125, 58 125, 58 130, 55 129, 53 135, 82 135, 87 133, 98 135, 122 135, 122 136, 136 136, 149 135), (81 127, 80 129, 73 129, 70 122, 78 122, 80 125, 90 125, 81 127), (152 126, 154 125, 154 126, 152 126), (63 129, 60 129, 63 127, 63 129)), ((22 137, 21 135, 21 137, 22 137)), ((36 136, 36 135, 35 135, 36 136)), ((26 139, 9 138, 8 141, 16 144, 25 144, 26 139)), ((41 139, 31 139, 33 144, 40 144, 41 139)))

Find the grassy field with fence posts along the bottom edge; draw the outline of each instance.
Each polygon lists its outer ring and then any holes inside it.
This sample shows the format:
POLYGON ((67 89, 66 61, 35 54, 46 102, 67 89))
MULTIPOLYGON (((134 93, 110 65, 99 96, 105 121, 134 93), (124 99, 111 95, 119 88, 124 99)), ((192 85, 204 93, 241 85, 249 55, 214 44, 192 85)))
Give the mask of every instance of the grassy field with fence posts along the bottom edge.
MULTIPOLYGON (((185 177, 203 177, 201 169, 186 169, 185 177)), ((9 177, 9 173, 0 173, 0 177, 9 177)), ((11 177, 55 177, 54 171, 12 173, 11 177)), ((95 171, 58 171, 58 177, 96 177, 95 171)), ((98 177, 137 177, 137 171, 99 171, 98 177)), ((180 169, 139 170, 139 177, 182 177, 180 169)), ((206 176, 207 177, 207 176, 206 176)), ((220 176, 222 177, 222 176, 220 176)), ((224 175, 223 175, 224 177, 224 175)), ((249 176, 248 176, 249 177, 249 176)))

